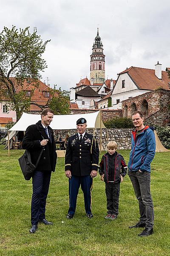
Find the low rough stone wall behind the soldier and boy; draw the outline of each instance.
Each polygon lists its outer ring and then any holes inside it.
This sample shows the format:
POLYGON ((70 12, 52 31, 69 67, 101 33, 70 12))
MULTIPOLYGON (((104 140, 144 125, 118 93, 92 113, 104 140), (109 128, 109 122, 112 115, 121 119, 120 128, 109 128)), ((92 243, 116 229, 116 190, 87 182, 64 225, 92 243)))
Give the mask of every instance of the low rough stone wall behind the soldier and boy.
MULTIPOLYGON (((90 134, 94 134, 93 129, 86 130, 90 134)), ((108 141, 115 140, 118 144, 119 149, 131 149, 131 129, 108 129, 108 139, 107 130, 102 129, 102 150, 106 148, 108 141)), ((77 133, 77 130, 55 130, 55 139, 58 140, 59 137, 65 139, 66 134, 70 136, 77 133)), ((100 129, 95 129, 95 135, 97 142, 100 145, 100 129)))

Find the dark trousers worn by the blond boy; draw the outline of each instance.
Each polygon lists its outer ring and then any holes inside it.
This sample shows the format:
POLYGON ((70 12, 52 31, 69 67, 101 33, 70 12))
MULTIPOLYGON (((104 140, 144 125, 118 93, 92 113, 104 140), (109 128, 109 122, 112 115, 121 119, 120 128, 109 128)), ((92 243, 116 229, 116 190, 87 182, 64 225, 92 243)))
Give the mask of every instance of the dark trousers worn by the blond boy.
POLYGON ((105 183, 108 214, 118 215, 120 183, 105 183))

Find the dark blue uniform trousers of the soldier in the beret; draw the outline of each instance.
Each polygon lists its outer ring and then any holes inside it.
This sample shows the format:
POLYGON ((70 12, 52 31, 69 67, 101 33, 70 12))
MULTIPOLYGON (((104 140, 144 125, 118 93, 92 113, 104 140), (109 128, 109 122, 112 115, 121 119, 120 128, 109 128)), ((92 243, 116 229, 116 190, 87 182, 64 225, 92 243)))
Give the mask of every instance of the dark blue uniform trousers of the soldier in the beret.
POLYGON ((72 175, 69 179, 69 209, 68 214, 74 215, 77 204, 77 195, 79 187, 81 185, 82 192, 84 194, 85 212, 91 214, 91 189, 93 184, 93 178, 90 175, 75 176, 72 175))

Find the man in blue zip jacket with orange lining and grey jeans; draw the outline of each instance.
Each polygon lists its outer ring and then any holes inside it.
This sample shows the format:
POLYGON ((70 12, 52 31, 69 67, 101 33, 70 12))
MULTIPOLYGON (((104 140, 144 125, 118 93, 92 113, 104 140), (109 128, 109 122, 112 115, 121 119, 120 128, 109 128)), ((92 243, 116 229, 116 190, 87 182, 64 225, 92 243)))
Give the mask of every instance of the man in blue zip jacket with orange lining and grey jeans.
POLYGON ((149 236, 153 233, 153 201, 150 194, 150 163, 155 155, 155 135, 153 129, 148 125, 144 126, 143 115, 140 111, 132 114, 133 125, 128 163, 128 175, 133 184, 136 198, 139 201, 139 221, 129 228, 145 227, 138 236, 149 236))

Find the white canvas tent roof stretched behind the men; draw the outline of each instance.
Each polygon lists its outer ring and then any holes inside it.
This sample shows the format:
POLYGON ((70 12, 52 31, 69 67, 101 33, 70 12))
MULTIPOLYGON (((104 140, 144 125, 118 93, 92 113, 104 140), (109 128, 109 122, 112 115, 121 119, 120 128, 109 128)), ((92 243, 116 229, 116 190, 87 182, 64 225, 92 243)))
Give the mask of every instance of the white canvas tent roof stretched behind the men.
MULTIPOLYGON (((54 115, 50 127, 54 130, 76 129, 76 121, 81 117, 87 120, 87 128, 100 128, 100 111, 90 114, 54 115)), ((29 125, 33 125, 39 120, 41 120, 41 115, 23 113, 18 122, 9 131, 26 131, 29 125)), ((106 128, 103 122, 101 126, 106 128)))

